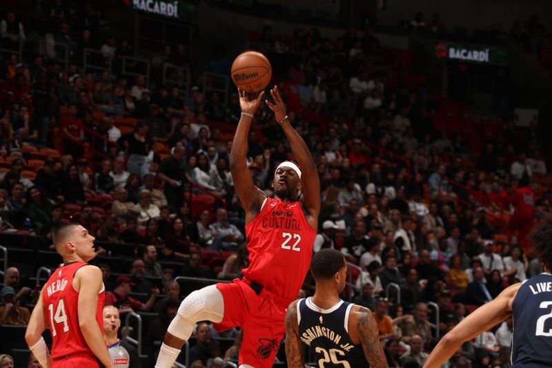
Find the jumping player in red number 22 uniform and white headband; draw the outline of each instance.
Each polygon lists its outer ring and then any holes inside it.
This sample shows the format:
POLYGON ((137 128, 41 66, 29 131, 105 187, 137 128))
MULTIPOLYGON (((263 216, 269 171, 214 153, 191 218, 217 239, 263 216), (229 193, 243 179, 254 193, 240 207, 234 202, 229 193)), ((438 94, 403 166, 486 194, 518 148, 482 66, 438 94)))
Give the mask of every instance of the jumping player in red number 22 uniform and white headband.
POLYGON ((239 367, 272 367, 284 337, 286 308, 295 300, 311 262, 320 211, 320 184, 313 157, 291 126, 278 89, 273 88, 270 95, 274 102, 266 100, 266 104, 284 130, 299 165, 279 164, 273 180, 274 198, 266 197, 253 184, 246 166, 249 130, 264 92, 253 99, 243 90, 238 93, 242 117, 230 153, 230 171, 246 212, 249 267, 242 271, 241 280, 190 293, 168 327, 156 368, 171 367, 200 320, 215 322, 219 331, 242 327, 239 367))

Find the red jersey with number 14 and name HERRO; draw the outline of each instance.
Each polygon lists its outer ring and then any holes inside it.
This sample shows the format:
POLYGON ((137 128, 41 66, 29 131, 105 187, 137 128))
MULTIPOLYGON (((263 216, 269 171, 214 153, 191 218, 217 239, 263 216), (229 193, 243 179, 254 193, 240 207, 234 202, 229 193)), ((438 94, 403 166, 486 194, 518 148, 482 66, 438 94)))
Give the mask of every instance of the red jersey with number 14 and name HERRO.
MULTIPOLYGON (((58 267, 43 289, 42 300, 46 308, 46 320, 52 333, 53 360, 83 355, 95 358, 79 327, 77 309, 79 292, 72 285, 75 272, 86 265, 84 262, 72 262, 58 267)), ((105 298, 105 291, 102 289, 96 309, 96 320, 101 331, 103 331, 103 298, 105 298)))

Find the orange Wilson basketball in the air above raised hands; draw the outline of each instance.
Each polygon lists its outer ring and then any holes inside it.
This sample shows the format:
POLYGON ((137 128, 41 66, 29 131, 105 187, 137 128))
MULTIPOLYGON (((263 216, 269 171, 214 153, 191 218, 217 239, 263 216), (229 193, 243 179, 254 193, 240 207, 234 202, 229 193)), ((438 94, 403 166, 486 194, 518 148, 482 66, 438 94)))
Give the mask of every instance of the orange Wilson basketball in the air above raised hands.
POLYGON ((270 61, 257 51, 246 51, 239 54, 232 64, 234 84, 248 93, 264 90, 272 77, 270 61))

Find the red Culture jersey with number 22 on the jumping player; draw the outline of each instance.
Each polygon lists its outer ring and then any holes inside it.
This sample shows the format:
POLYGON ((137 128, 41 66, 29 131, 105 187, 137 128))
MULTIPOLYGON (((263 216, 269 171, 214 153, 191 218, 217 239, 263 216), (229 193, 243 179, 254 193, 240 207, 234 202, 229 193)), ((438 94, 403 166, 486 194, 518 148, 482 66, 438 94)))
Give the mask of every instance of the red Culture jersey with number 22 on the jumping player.
POLYGON ((311 265, 315 236, 299 202, 267 198, 246 224, 249 267, 242 272, 277 296, 295 300, 311 265))

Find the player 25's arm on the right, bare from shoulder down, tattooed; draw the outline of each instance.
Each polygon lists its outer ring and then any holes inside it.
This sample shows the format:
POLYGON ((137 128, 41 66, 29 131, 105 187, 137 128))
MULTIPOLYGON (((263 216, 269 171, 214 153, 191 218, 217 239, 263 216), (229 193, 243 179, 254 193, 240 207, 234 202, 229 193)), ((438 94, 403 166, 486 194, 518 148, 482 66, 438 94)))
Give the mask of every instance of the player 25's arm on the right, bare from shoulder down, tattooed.
POLYGON ((359 341, 366 360, 372 368, 388 368, 382 344, 380 331, 377 329, 372 311, 364 307, 355 306, 349 317, 349 336, 353 342, 359 341))

